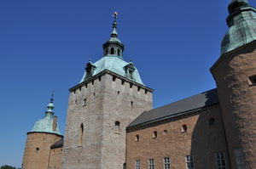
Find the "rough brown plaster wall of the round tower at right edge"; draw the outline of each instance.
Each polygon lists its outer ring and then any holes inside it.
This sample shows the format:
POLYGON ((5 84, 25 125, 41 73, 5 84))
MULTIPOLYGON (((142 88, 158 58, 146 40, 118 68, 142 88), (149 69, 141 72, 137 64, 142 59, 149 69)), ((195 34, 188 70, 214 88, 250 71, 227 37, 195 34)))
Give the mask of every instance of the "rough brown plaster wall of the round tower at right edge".
POLYGON ((232 168, 243 149, 247 168, 256 168, 256 41, 223 54, 212 66, 218 87, 232 168))

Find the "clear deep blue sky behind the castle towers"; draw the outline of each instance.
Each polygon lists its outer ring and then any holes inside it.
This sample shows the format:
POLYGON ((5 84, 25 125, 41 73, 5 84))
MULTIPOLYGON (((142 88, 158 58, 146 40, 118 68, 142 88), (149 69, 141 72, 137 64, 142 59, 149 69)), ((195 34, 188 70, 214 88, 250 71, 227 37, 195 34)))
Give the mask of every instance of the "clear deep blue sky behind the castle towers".
MULTIPOLYGON (((26 132, 44 117, 55 89, 65 134, 68 89, 102 58, 119 13, 124 59, 133 63, 154 108, 215 87, 209 71, 228 26, 230 0, 1 0, 0 166, 21 166, 26 132)), ((249 1, 256 7, 256 2, 249 1)))

